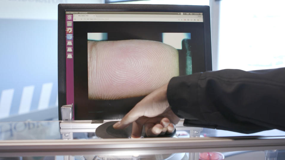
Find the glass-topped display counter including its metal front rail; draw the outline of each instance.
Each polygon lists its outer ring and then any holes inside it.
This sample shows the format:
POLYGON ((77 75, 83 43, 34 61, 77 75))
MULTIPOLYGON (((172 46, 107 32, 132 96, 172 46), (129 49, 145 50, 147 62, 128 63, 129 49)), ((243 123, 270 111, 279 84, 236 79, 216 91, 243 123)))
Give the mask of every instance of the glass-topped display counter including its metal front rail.
POLYGON ((0 160, 284 159, 284 131, 240 134, 186 127, 181 120, 173 137, 97 137, 96 128, 110 121, 0 122, 0 160))

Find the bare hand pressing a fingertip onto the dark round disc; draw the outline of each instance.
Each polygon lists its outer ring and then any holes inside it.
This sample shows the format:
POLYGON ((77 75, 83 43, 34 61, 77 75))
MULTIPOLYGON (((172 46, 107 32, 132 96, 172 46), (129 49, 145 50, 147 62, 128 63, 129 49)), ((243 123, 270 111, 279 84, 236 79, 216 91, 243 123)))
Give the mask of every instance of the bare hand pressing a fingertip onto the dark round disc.
POLYGON ((128 112, 120 122, 113 125, 123 129, 132 123, 132 138, 141 137, 143 126, 148 137, 155 137, 166 132, 172 133, 180 120, 170 109, 167 101, 167 85, 147 95, 128 112))

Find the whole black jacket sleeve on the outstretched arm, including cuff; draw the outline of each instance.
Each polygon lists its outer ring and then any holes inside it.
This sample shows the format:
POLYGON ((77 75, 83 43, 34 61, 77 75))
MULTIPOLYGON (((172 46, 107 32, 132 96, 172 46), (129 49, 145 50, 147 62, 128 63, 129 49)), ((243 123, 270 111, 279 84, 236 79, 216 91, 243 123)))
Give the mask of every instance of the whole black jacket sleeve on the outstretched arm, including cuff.
POLYGON ((172 111, 185 118, 184 126, 240 133, 285 131, 285 68, 173 77, 167 99, 172 111))

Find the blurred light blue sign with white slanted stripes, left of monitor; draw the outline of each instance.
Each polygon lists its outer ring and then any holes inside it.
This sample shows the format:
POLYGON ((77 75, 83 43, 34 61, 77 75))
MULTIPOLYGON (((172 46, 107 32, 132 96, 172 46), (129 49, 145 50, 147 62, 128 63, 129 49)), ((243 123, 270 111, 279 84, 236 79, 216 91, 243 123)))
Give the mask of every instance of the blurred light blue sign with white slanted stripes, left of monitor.
POLYGON ((59 3, 0 0, 0 121, 58 120, 59 3))

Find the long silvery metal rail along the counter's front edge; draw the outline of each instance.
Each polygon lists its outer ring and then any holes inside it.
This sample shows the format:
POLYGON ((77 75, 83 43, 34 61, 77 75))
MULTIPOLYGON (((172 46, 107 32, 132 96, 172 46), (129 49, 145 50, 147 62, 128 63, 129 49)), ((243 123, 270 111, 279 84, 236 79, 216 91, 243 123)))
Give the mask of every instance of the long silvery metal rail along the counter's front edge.
POLYGON ((285 150, 285 137, 6 140, 1 156, 153 155, 182 152, 285 150))

